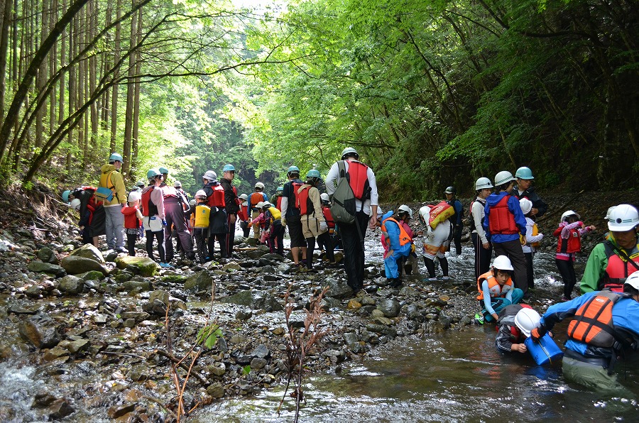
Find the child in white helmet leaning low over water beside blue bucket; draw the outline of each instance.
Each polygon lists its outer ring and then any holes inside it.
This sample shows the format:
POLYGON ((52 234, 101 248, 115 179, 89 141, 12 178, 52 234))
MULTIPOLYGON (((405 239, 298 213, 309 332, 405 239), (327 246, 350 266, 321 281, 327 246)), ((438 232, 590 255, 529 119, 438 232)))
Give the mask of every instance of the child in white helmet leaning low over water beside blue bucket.
POLYGON ((499 312, 495 344, 501 353, 525 353, 524 341, 539 326, 541 316, 528 304, 510 304, 499 312))

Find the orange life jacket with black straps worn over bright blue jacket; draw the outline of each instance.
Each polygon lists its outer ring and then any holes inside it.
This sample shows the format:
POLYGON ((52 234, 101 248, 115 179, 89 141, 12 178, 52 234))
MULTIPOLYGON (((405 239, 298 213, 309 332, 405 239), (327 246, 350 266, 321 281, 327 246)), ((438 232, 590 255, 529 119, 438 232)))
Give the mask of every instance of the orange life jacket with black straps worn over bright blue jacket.
POLYGON ((574 319, 568 325, 568 336, 591 346, 614 346, 616 339, 612 309, 621 297, 609 290, 593 295, 574 314, 574 319))

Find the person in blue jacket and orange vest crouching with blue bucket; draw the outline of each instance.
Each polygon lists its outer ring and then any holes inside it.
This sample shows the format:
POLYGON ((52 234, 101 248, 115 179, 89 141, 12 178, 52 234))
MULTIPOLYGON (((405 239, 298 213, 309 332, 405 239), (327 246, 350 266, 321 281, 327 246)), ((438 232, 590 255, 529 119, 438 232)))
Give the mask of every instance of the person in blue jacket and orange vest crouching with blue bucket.
POLYGON ((530 336, 538 341, 555 324, 573 317, 562 361, 564 378, 608 394, 627 395, 630 392, 618 382, 614 367, 618 356, 636 351, 639 345, 638 302, 639 271, 628 276, 623 292, 586 292, 548 307, 530 336))

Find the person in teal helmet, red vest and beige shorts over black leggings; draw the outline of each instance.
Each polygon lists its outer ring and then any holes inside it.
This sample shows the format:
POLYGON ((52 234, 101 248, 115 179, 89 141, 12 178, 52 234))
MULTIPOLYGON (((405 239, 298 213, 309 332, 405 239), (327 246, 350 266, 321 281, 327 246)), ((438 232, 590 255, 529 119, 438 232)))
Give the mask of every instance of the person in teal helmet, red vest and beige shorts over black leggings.
MULTIPOLYGON (((300 209, 302 220, 302 234, 306 238, 306 268, 313 268, 313 250, 315 250, 315 238, 321 239, 325 246, 331 245, 331 236, 328 231, 328 224, 324 220, 322 212, 322 200, 317 185, 320 184, 322 176, 317 169, 311 169, 306 174, 306 183, 297 189, 297 208, 300 209)), ((331 263, 335 262, 333 249, 326 251, 326 257, 331 263)))

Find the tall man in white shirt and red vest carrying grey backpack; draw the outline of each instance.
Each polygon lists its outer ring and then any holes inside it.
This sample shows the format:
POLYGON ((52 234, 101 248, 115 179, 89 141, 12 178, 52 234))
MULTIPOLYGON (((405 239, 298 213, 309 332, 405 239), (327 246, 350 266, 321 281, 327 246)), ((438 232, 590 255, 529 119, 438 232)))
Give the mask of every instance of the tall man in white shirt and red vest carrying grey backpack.
MULTIPOLYGON (((346 180, 354 197, 353 223, 337 221, 344 246, 344 268, 348 285, 357 294, 364 287, 364 236, 366 226, 375 229, 377 224, 378 193, 375 173, 359 162, 354 148, 344 148, 342 160, 334 163, 324 182, 329 195, 336 194, 339 182, 346 180)), ((333 197, 333 204, 343 199, 333 197)))

